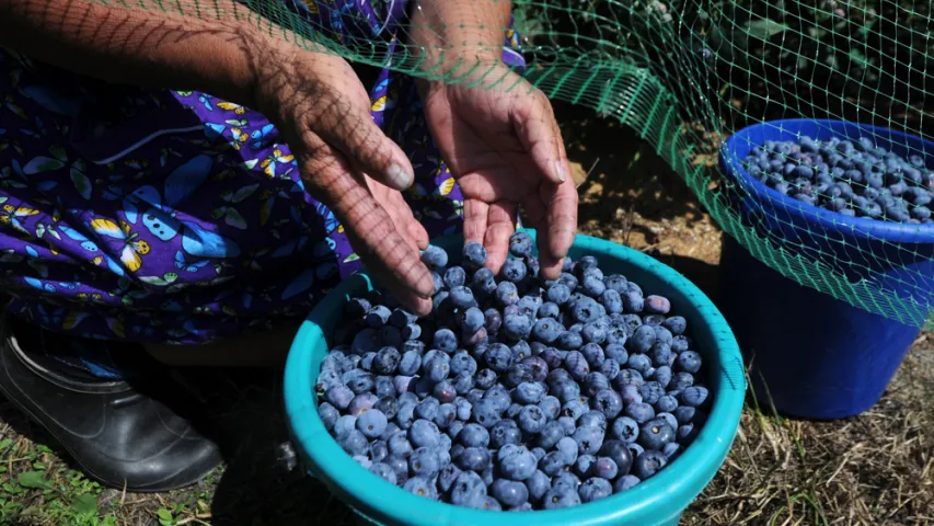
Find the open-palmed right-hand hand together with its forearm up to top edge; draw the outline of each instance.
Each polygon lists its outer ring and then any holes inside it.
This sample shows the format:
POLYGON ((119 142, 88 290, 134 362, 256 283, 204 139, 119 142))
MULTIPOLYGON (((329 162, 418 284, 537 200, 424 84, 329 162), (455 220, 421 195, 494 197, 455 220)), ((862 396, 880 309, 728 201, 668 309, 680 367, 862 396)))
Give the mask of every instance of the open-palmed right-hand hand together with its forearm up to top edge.
POLYGON ((499 272, 519 206, 539 232, 541 272, 561 273, 577 230, 577 190, 547 98, 503 62, 509 1, 419 0, 410 35, 426 69, 428 127, 464 194, 464 237, 499 272), (461 78, 457 78, 461 77, 461 78))

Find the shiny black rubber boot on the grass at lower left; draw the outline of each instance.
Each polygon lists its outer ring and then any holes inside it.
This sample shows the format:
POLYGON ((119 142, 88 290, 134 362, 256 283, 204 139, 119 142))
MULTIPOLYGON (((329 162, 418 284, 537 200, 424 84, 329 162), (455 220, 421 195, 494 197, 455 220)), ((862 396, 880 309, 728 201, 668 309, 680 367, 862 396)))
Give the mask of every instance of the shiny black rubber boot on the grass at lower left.
POLYGON ((136 385, 78 381, 30 359, 5 317, 0 318, 0 395, 47 430, 88 476, 112 488, 184 488, 221 462, 214 442, 136 385))

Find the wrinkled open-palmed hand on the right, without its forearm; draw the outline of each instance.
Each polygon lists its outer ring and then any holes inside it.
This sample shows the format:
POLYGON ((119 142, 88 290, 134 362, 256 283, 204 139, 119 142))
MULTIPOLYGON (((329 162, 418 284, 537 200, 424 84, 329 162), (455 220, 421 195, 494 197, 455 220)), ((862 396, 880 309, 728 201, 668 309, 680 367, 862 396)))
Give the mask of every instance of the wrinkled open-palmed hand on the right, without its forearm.
MULTIPOLYGON (((551 103, 505 66, 493 88, 420 82, 431 135, 464 194, 464 237, 499 272, 518 207, 539 232, 547 278, 561 273, 577 229, 577 190, 551 103)), ((491 80, 492 82, 492 80, 491 80)))

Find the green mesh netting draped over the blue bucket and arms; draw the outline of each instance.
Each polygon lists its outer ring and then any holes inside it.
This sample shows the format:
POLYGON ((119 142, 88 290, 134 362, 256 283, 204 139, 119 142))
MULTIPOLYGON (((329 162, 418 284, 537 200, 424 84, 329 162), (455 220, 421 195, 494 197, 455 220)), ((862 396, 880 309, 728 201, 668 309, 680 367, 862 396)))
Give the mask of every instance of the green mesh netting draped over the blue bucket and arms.
MULTIPOLYGON (((419 7, 413 0, 394 43, 336 38, 328 20, 302 15, 296 3, 290 8, 285 2, 292 0, 246 0, 241 5, 126 0, 117 5, 238 18, 305 49, 446 82, 471 82, 476 89, 501 87, 501 69, 476 58, 488 53, 449 43, 447 59, 431 61, 411 38, 416 31, 445 34, 471 20, 430 13, 415 18, 413 10, 419 7), (417 20, 427 26, 416 26, 417 20)), ((371 3, 387 10, 394 2, 371 3)), ((312 14, 316 11, 308 7, 312 14)), ((865 310, 913 325, 929 320, 934 311, 934 225, 904 224, 900 241, 849 226, 842 216, 839 225, 831 219, 830 226, 803 226, 788 213, 799 205, 724 178, 717 156, 737 130, 785 118, 843 119, 926 137, 931 119, 925 118, 925 95, 934 57, 931 2, 515 0, 511 8, 528 62, 521 75, 553 100, 590 107, 636 130, 683 176, 724 231, 758 260, 865 310)), ((369 26, 369 21, 354 20, 354 12, 337 16, 344 25, 369 26)), ((918 144, 902 140, 896 146, 932 157, 918 144)), ((927 162, 934 167, 934 159, 927 162)), ((934 175, 922 171, 925 181, 934 175)), ((811 214, 800 209, 804 217, 811 214)))

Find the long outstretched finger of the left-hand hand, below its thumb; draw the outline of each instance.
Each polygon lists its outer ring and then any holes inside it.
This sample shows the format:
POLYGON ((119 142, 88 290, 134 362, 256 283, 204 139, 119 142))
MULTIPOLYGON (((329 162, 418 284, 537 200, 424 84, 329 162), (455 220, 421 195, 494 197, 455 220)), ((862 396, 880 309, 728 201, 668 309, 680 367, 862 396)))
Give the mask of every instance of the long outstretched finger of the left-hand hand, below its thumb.
POLYGON ((312 133, 305 134, 304 146, 300 165, 312 195, 332 207, 373 277, 413 312, 427 315, 434 282, 405 232, 341 153, 312 133))

